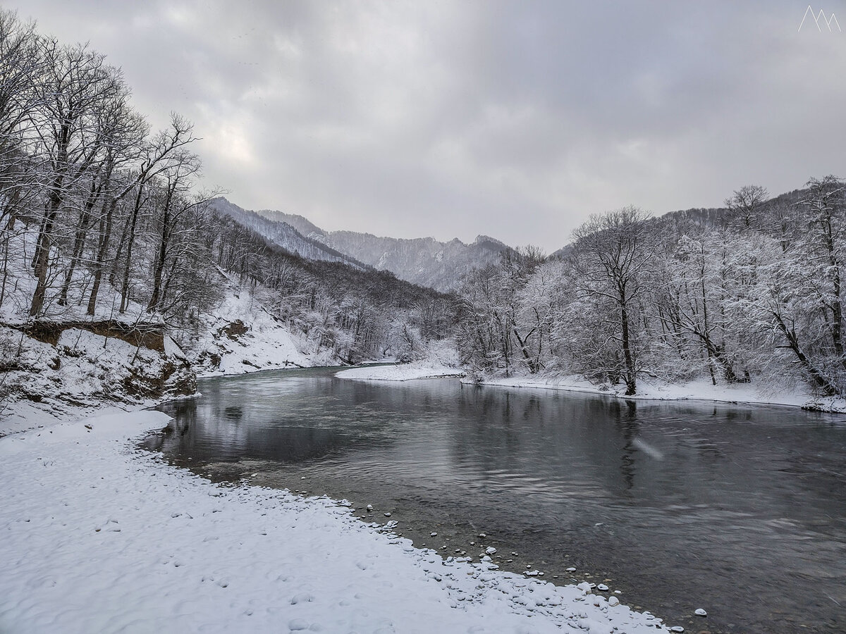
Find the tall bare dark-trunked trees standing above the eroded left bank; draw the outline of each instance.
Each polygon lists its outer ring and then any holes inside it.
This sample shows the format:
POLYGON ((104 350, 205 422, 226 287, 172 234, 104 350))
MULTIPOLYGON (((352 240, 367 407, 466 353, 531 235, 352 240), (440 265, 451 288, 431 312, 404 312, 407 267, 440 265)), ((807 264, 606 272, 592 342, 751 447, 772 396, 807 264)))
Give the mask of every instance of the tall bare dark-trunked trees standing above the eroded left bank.
POLYGON ((198 300, 186 270, 202 268, 208 196, 193 126, 174 113, 152 132, 129 97, 102 54, 0 12, 0 309, 173 314, 198 300), (22 263, 32 275, 11 280, 22 263))

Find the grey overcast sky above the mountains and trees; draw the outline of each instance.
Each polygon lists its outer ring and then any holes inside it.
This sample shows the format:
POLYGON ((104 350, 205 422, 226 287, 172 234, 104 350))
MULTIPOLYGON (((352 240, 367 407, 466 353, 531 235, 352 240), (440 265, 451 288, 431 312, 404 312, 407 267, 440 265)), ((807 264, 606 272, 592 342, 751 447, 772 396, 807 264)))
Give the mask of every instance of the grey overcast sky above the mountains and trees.
MULTIPOLYGON (((14 0, 4 3, 14 8, 14 0)), ((328 229, 547 251, 593 212, 846 175, 846 0, 26 0, 184 114, 206 183, 328 229)))

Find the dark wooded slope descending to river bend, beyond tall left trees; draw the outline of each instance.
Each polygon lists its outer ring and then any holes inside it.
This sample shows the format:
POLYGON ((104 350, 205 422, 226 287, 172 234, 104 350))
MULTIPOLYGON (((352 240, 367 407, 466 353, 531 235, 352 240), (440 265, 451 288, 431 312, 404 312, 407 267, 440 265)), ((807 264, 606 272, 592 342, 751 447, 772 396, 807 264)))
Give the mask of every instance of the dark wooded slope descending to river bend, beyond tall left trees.
POLYGON ((332 350, 338 363, 409 360, 451 332, 450 296, 388 271, 305 260, 218 212, 209 227, 212 261, 256 289, 283 324, 332 350))

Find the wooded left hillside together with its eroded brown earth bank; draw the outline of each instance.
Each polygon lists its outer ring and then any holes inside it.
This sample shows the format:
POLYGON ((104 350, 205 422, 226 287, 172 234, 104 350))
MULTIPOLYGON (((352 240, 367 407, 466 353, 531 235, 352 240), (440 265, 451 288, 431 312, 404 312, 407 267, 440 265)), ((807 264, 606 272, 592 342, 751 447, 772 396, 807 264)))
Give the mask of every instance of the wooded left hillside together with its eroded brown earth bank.
POLYGON ((0 12, 0 396, 193 391, 195 363, 219 363, 210 332, 250 331, 220 316, 244 293, 310 363, 414 358, 448 334, 440 293, 215 210, 196 141, 175 113, 151 130, 102 54, 0 12))

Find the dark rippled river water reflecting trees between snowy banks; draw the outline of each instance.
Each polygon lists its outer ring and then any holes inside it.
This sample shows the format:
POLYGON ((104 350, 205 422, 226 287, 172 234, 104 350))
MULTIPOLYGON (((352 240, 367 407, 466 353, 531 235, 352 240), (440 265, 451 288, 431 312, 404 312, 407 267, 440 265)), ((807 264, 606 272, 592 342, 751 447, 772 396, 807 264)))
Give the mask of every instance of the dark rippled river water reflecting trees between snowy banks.
POLYGON ((686 631, 846 631, 843 416, 323 369, 200 390, 147 441, 198 473, 371 503, 415 544, 607 580, 686 631))

